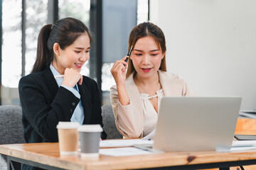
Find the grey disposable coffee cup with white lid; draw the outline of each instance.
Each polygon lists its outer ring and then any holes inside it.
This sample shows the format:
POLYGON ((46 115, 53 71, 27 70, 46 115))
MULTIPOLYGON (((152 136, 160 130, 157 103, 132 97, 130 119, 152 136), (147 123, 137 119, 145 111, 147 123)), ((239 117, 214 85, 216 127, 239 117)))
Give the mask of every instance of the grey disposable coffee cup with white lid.
POLYGON ((80 136, 81 157, 99 157, 100 125, 80 125, 78 128, 80 136))

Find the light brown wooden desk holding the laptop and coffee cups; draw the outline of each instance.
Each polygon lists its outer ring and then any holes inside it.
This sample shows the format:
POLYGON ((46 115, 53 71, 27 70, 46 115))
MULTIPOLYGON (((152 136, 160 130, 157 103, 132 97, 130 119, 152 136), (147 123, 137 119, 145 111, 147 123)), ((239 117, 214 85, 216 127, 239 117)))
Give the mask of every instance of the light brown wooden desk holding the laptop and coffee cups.
POLYGON ((229 166, 256 164, 256 150, 247 152, 166 152, 129 157, 100 155, 99 159, 60 157, 58 143, 0 145, 0 153, 16 162, 46 169, 229 169, 229 166), (58 168, 56 168, 58 167, 58 168))

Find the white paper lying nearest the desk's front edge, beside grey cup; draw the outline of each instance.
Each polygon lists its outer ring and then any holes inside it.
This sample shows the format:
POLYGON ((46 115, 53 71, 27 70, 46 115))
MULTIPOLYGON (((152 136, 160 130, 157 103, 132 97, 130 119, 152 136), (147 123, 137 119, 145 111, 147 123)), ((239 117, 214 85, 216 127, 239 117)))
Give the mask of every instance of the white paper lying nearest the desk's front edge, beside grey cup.
POLYGON ((138 154, 153 154, 153 152, 144 151, 136 147, 119 147, 110 149, 100 149, 100 154, 105 154, 113 157, 125 157, 138 154))

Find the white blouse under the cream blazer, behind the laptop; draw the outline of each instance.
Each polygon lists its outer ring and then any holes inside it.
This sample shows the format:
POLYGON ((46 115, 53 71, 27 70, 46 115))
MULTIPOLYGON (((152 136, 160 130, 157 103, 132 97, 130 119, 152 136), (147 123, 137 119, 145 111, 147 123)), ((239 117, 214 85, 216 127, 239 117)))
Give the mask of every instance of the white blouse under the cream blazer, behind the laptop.
POLYGON ((163 89, 156 91, 156 95, 149 96, 149 94, 140 94, 140 98, 142 100, 142 109, 144 114, 144 130, 143 130, 143 137, 149 135, 156 128, 156 120, 159 112, 160 101, 161 98, 164 96, 163 89), (154 106, 149 101, 149 98, 158 97, 158 111, 154 109, 154 106))

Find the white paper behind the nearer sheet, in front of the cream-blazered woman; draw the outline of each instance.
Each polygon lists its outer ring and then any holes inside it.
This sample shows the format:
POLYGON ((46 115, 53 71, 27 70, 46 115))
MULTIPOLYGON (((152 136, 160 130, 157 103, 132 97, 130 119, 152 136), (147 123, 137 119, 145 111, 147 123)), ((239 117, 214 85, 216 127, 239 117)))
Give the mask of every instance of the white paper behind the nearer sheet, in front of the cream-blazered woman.
POLYGON ((153 144, 153 140, 102 140, 100 147, 132 147, 133 145, 153 144))

